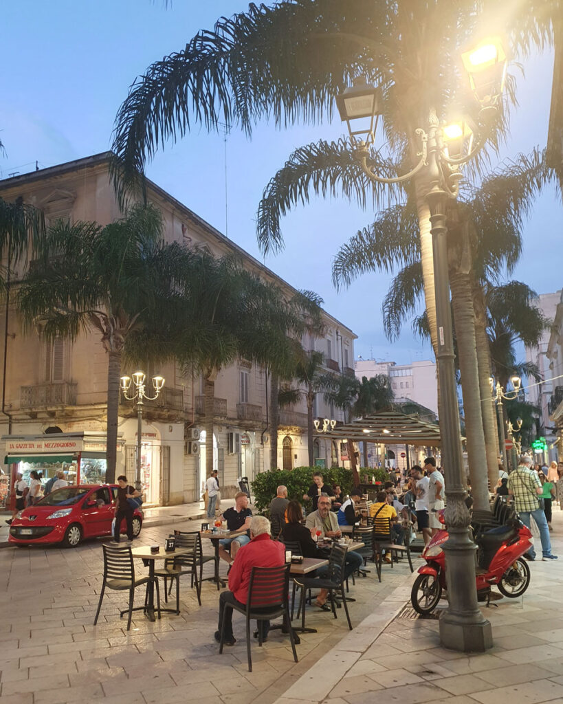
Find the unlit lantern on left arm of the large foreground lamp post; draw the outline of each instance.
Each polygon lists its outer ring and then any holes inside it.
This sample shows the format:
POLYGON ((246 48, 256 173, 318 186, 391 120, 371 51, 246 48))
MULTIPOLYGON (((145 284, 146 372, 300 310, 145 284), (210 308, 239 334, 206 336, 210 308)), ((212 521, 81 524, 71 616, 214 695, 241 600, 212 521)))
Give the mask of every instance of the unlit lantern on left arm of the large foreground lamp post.
POLYGON ((381 91, 370 85, 365 76, 358 76, 352 86, 336 96, 336 107, 352 141, 360 137, 366 144, 373 144, 381 114, 381 91), (352 125, 353 120, 358 121, 352 125))

